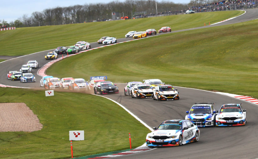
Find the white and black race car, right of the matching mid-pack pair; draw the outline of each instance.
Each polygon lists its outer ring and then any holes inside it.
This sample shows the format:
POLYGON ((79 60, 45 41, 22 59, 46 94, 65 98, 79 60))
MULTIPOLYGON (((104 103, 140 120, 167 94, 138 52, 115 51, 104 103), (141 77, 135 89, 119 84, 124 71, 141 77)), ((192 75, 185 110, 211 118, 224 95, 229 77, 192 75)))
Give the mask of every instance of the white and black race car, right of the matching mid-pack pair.
POLYGON ((172 85, 158 85, 153 89, 153 99, 158 101, 179 99, 179 92, 172 85))

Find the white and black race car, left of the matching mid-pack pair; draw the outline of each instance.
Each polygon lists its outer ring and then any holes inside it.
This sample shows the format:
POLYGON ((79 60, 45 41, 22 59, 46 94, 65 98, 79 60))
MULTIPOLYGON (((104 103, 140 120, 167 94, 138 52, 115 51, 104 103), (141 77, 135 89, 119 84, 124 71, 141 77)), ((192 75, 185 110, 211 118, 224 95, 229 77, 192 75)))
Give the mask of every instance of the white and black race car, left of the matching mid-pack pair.
POLYGON ((153 91, 152 87, 149 84, 135 84, 131 88, 132 98, 152 98, 153 91))

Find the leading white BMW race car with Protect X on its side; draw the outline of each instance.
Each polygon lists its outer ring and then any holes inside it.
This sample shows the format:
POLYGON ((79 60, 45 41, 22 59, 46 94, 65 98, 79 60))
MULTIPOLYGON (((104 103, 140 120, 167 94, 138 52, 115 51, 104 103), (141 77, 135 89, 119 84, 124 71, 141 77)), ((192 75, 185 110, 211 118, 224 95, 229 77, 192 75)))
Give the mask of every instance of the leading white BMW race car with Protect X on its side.
POLYGON ((146 146, 181 146, 198 142, 200 130, 188 120, 166 120, 146 136, 146 146))

